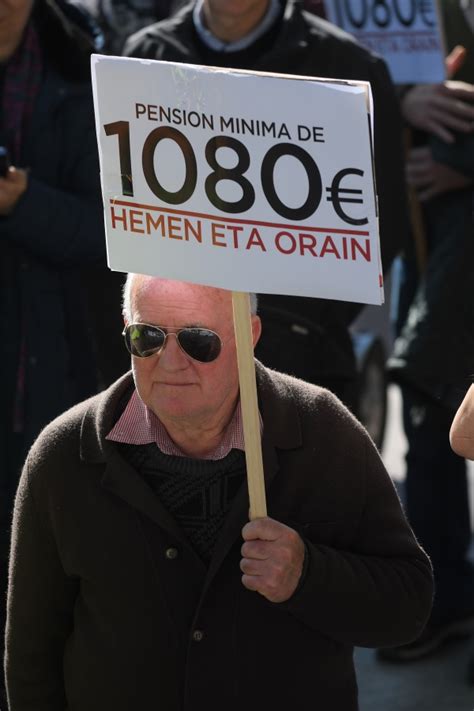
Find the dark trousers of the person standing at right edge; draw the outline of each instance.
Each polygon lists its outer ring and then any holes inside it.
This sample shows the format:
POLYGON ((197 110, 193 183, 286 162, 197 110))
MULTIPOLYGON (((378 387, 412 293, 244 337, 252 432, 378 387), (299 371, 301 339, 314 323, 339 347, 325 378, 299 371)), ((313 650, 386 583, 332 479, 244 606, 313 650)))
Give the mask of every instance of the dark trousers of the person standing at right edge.
POLYGON ((443 622, 474 614, 466 462, 449 445, 454 412, 414 389, 403 387, 402 396, 407 514, 433 563, 432 619, 443 622))

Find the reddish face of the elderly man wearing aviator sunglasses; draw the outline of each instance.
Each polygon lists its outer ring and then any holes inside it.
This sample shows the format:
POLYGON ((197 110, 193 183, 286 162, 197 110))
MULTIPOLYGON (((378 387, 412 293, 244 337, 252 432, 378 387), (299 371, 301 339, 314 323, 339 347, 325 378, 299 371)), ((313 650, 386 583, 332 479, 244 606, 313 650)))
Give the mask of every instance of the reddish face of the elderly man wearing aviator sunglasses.
MULTIPOLYGON (((143 402, 165 424, 203 424, 232 410, 239 385, 231 292, 135 277, 131 301, 134 322, 164 328, 209 328, 223 343, 211 363, 187 356, 174 336, 168 337, 159 353, 149 358, 133 357, 135 385, 143 402)), ((253 318, 253 327, 258 338, 258 317, 253 318)))

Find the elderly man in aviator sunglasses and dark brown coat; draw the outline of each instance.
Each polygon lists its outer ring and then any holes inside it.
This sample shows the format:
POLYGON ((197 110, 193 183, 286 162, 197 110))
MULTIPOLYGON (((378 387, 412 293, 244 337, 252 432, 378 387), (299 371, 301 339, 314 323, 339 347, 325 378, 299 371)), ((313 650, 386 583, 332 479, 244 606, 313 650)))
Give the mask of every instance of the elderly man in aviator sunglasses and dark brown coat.
POLYGON ((49 425, 22 475, 11 711, 355 711, 353 645, 415 637, 432 595, 375 447, 257 363, 270 517, 248 522, 230 293, 132 276, 124 313, 133 376, 49 425))

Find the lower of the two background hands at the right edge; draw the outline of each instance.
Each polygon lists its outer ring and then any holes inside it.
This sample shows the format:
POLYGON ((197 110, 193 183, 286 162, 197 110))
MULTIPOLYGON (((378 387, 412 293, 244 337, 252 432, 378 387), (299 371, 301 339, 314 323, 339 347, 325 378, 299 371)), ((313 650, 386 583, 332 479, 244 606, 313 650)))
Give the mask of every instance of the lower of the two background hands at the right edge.
POLYGON ((436 195, 461 190, 471 185, 472 180, 454 168, 433 160, 429 147, 413 148, 406 164, 407 183, 417 191, 420 202, 427 202, 436 195))

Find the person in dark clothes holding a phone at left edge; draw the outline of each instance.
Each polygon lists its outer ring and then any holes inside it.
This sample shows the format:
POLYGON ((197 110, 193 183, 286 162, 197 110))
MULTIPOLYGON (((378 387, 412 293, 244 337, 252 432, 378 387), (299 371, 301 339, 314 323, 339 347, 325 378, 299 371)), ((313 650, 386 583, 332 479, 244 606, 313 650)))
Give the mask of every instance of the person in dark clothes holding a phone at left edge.
POLYGON ((88 17, 61 0, 1 5, 0 651, 26 453, 50 420, 97 389, 82 281, 84 268, 105 263, 94 37, 88 17))

